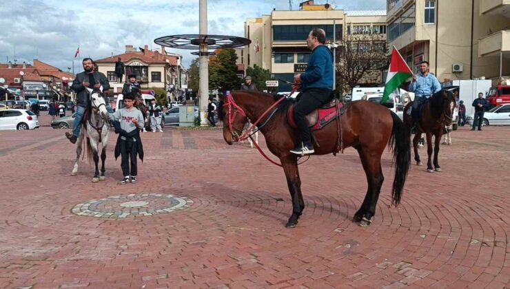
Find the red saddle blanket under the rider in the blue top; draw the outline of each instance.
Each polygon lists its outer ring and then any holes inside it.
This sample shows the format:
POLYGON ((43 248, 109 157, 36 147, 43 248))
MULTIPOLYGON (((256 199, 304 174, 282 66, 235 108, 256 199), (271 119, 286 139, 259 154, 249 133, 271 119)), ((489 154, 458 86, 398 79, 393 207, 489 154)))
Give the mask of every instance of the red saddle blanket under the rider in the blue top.
MULTIPOLYGON (((294 106, 295 105, 292 105, 292 107, 289 108, 287 113, 287 121, 291 127, 297 129, 298 125, 296 125, 296 122, 294 121, 294 106)), ((320 107, 319 109, 312 111, 311 114, 306 116, 308 126, 312 127, 312 130, 314 131, 322 129, 329 122, 332 122, 332 120, 338 118, 338 112, 340 112, 340 115, 343 114, 343 106, 343 103, 336 103, 336 105, 335 103, 329 103, 323 107, 320 107), (337 105, 338 108, 336 107, 337 105)))

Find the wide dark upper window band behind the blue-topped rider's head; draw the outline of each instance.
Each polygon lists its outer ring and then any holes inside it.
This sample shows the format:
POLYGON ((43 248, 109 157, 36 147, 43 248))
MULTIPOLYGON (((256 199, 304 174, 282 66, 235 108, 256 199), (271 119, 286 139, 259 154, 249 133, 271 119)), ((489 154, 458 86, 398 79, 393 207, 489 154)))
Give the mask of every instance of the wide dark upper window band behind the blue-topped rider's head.
MULTIPOLYGON (((274 41, 305 41, 314 28, 322 28, 326 32, 326 40, 333 40, 333 25, 274 25, 274 41)), ((342 39, 343 25, 336 24, 336 40, 342 39)))

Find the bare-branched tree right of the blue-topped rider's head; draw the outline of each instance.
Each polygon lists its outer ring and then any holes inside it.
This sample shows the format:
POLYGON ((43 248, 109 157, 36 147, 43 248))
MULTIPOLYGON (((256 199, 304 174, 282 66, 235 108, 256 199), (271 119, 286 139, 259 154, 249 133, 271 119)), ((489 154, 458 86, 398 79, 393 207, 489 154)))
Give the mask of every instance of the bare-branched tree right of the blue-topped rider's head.
POLYGON ((386 41, 380 34, 347 34, 336 49, 337 87, 351 92, 361 81, 378 83, 389 65, 386 41))

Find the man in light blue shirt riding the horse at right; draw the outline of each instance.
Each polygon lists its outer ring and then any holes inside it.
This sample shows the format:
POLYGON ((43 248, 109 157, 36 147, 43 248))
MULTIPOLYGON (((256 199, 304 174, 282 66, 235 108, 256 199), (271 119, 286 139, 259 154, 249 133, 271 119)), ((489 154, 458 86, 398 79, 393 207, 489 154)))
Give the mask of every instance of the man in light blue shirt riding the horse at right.
POLYGON ((413 76, 413 81, 409 85, 409 91, 414 92, 414 101, 411 108, 412 129, 411 133, 418 133, 418 120, 423 104, 427 102, 432 94, 439 92, 441 85, 436 76, 429 73, 429 63, 422 61, 420 63, 420 74, 413 76))

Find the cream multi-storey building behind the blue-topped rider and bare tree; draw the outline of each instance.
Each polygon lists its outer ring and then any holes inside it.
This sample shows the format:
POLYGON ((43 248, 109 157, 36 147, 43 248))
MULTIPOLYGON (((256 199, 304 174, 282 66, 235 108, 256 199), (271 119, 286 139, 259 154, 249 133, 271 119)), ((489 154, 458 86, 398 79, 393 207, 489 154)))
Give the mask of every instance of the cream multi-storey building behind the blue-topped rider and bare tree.
MULTIPOLYGON (((252 44, 245 47, 241 63, 245 67, 258 65, 276 78, 293 81, 294 74, 304 72, 310 56, 306 39, 313 28, 323 28, 327 43, 339 43, 346 34, 364 34, 371 39, 386 41, 385 11, 335 10, 331 5, 314 5, 314 1, 302 3, 300 10, 277 11, 245 21, 245 37, 252 44)), ((239 54, 238 54, 239 56, 239 54)), ((337 63, 340 59, 336 59, 337 63)), ((367 84, 380 84, 382 72, 367 84)), ((282 85, 280 90, 289 89, 282 85)))

